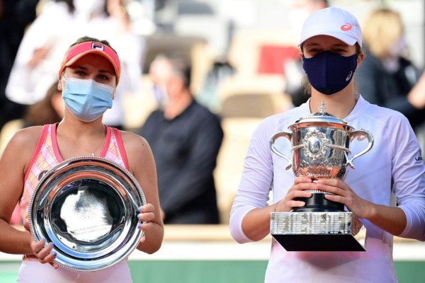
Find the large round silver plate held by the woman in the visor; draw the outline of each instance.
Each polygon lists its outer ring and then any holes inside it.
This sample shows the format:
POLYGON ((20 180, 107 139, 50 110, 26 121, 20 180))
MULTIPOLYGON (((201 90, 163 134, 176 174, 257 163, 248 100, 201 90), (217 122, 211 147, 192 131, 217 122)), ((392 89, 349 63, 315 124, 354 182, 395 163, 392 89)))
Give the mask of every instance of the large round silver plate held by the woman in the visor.
POLYGON ((29 206, 35 241, 55 244, 55 262, 94 272, 125 260, 140 242, 137 208, 142 188, 123 166, 107 158, 71 158, 47 171, 29 206))

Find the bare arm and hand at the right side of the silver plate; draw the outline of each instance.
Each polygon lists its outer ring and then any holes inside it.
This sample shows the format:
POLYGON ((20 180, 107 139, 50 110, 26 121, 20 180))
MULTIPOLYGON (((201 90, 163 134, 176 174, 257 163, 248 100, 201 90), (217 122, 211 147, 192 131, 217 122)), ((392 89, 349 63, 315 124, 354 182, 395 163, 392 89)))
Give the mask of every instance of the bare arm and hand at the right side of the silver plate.
POLYGON ((164 224, 160 214, 157 169, 154 163, 154 156, 145 139, 130 132, 121 132, 121 134, 130 171, 142 187, 147 201, 147 205, 142 207, 140 212, 140 220, 147 221, 140 227, 140 229, 145 231, 145 236, 140 241, 137 249, 145 253, 155 253, 162 245, 164 224))

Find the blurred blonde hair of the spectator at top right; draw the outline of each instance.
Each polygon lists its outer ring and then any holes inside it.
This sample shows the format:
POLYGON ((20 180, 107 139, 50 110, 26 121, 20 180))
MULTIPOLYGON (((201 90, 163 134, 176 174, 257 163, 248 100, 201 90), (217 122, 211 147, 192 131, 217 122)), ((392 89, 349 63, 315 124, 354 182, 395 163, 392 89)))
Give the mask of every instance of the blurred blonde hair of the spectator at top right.
POLYGON ((362 30, 363 42, 368 46, 369 52, 384 59, 403 34, 402 18, 390 8, 378 8, 366 18, 362 30))

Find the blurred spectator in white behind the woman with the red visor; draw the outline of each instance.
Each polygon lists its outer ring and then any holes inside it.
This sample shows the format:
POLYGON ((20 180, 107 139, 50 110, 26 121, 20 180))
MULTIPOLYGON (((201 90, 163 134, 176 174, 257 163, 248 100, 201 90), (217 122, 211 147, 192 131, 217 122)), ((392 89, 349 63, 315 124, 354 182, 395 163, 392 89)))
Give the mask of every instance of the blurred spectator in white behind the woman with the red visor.
POLYGON ((57 68, 69 45, 81 36, 108 40, 120 55, 123 72, 106 125, 123 128, 123 96, 140 94, 145 42, 130 31, 120 0, 51 0, 28 28, 11 70, 6 96, 31 105, 45 96, 57 79, 57 68), (23 79, 26 78, 26 79, 23 79))

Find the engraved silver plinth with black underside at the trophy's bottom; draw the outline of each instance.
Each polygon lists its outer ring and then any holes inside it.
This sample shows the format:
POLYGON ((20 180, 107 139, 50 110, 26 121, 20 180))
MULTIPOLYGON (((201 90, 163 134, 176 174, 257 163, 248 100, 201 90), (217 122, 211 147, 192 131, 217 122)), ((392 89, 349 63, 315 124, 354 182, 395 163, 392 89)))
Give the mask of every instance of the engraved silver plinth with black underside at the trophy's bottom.
POLYGON ((270 233, 288 251, 365 251, 351 212, 272 212, 270 233))

